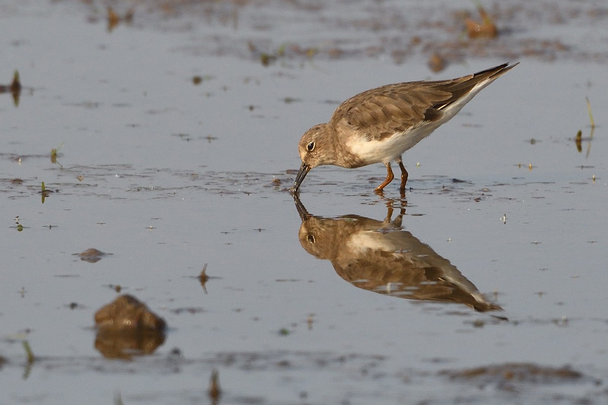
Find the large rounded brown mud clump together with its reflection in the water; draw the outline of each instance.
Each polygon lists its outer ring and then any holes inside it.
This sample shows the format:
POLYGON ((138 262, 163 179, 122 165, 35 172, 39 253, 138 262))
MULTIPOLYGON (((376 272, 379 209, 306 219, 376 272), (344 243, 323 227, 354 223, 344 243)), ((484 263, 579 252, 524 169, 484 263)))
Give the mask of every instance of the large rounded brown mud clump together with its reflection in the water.
POLYGON ((165 341, 164 319, 128 294, 98 310, 95 325, 95 349, 107 358, 151 354, 165 341))

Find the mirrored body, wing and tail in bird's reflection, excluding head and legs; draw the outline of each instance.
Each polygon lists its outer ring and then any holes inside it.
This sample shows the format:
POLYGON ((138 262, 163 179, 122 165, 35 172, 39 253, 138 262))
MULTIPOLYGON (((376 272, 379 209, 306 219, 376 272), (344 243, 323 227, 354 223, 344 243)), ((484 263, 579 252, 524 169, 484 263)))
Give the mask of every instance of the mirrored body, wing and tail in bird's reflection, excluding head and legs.
POLYGON ((478 311, 500 309, 449 260, 407 231, 351 234, 332 260, 340 277, 357 287, 403 298, 452 301, 478 311))

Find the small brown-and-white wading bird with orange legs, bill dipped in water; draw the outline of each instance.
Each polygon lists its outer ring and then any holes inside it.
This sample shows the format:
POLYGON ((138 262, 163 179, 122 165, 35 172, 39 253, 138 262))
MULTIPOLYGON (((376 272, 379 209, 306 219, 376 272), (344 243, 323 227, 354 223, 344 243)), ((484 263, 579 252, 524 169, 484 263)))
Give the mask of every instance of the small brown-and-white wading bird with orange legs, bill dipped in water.
POLYGON ((401 154, 454 117, 483 87, 513 67, 508 63, 452 80, 411 81, 367 90, 340 104, 328 123, 318 124, 300 139, 302 166, 295 177, 297 192, 306 174, 316 166, 360 168, 384 163, 386 179, 376 192, 392 182, 390 162, 401 169, 401 193, 407 171, 401 154))

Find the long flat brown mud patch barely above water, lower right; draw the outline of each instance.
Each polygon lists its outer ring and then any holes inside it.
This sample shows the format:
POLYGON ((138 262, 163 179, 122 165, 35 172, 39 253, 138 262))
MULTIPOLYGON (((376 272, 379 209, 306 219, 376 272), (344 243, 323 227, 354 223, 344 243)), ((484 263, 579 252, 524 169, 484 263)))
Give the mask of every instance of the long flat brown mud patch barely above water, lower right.
POLYGON ((495 366, 476 367, 465 370, 446 370, 440 372, 454 380, 474 380, 482 385, 496 385, 508 388, 514 383, 559 384, 579 381, 583 375, 568 367, 544 367, 531 363, 506 363, 495 366))

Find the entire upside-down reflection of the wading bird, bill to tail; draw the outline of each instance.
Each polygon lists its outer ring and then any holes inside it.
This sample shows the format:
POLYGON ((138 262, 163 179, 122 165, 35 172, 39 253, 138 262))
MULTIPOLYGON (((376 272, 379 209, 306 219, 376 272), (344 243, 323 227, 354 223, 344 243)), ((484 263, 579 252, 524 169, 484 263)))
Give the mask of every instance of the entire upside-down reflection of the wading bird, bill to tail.
POLYGON ((356 215, 312 216, 297 196, 302 247, 331 261, 336 273, 356 287, 400 298, 457 302, 476 311, 502 310, 489 302, 449 260, 401 228, 405 209, 391 220, 356 215))

